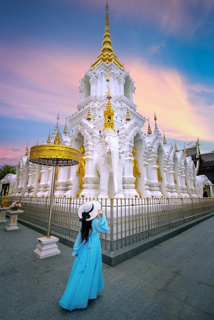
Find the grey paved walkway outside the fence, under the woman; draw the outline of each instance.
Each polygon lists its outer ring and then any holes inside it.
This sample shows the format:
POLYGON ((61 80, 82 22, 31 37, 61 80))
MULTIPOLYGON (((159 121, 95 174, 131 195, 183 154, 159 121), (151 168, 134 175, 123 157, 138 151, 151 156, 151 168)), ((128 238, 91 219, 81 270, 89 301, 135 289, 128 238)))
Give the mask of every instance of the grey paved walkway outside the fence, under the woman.
POLYGON ((103 264, 105 289, 84 310, 58 301, 74 261, 72 249, 37 259, 41 234, 0 224, 0 319, 214 319, 214 217, 115 267, 103 264))

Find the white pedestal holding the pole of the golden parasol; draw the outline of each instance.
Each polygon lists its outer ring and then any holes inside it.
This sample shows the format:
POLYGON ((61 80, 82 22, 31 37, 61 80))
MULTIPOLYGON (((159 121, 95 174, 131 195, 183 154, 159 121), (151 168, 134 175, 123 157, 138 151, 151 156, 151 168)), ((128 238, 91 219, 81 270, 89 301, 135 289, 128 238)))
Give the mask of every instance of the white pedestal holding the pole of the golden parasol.
POLYGON ((50 236, 50 238, 42 237, 37 239, 39 244, 36 249, 33 250, 33 253, 37 258, 44 259, 61 253, 56 244, 56 242, 59 241, 58 238, 50 236))

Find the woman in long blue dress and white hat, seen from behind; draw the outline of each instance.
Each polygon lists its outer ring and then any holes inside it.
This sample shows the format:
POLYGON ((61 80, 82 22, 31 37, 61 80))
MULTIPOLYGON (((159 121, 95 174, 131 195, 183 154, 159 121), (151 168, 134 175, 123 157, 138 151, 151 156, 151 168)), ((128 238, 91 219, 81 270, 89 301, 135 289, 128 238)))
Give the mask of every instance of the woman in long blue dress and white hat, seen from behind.
POLYGON ((96 299, 97 292, 104 289, 98 232, 106 233, 109 230, 99 201, 83 203, 77 214, 81 224, 72 253, 76 258, 66 290, 59 301, 61 307, 70 311, 86 308, 88 301, 96 299), (97 215, 99 220, 96 219, 97 215))

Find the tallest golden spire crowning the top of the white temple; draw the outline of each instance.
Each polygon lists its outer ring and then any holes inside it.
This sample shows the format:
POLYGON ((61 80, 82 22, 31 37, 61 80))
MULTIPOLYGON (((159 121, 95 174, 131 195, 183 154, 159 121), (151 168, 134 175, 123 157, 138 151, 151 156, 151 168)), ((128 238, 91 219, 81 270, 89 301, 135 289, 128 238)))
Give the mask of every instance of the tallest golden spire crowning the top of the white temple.
POLYGON ((122 71, 124 70, 123 64, 117 60, 117 56, 114 53, 112 48, 111 35, 109 30, 109 5, 108 1, 105 6, 106 14, 105 14, 105 31, 103 35, 102 48, 100 50, 100 54, 97 56, 97 60, 91 64, 91 70, 93 70, 98 64, 102 61, 106 64, 110 62, 114 62, 122 71))

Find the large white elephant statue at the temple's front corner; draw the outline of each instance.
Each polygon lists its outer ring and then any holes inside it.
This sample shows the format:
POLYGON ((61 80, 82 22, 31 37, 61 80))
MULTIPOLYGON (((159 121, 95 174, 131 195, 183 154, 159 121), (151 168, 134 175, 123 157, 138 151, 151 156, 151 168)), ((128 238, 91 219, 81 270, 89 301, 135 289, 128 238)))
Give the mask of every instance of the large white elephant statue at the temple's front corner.
MULTIPOLYGON (((115 132, 108 132, 103 135, 103 139, 95 146, 98 157, 96 169, 100 175, 99 198, 124 198, 122 188, 123 175, 123 153, 125 145, 120 143, 119 137, 115 132), (108 184, 110 173, 113 175, 114 194, 108 194, 108 184)), ((112 188, 113 189, 113 188, 112 188)))

